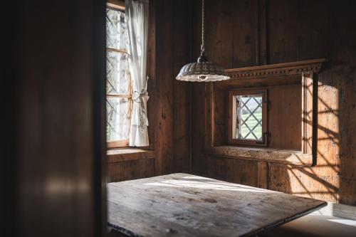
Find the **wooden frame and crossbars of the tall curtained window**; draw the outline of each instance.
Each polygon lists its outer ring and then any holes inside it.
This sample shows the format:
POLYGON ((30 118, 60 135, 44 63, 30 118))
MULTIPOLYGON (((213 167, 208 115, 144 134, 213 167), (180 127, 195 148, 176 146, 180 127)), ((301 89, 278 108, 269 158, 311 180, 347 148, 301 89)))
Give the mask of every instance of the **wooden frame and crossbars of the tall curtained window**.
MULTIPOLYGON (((110 9, 113 11, 121 11, 125 13, 125 2, 124 1, 107 1, 106 3, 106 9, 110 9)), ((123 54, 129 54, 127 50, 125 49, 120 49, 120 48, 108 48, 106 47, 106 52, 113 52, 113 53, 123 53, 123 54)), ((133 87, 132 87, 132 78, 130 74, 130 68, 127 68, 127 79, 129 80, 129 88, 128 88, 128 94, 109 94, 106 93, 105 98, 127 98, 129 104, 129 110, 130 110, 130 124, 131 124, 131 119, 132 119, 132 93, 133 93, 133 87)), ((108 80, 108 79, 107 79, 108 80)), ((108 120, 107 120, 108 121, 108 120)), ((131 125, 129 124, 129 131, 128 133, 130 134, 130 127, 131 125)), ((108 126, 108 122, 107 122, 108 126)), ((122 147, 129 147, 129 139, 122 139, 122 140, 113 140, 108 142, 108 139, 106 141, 108 149, 115 149, 115 148, 122 148, 122 147)))

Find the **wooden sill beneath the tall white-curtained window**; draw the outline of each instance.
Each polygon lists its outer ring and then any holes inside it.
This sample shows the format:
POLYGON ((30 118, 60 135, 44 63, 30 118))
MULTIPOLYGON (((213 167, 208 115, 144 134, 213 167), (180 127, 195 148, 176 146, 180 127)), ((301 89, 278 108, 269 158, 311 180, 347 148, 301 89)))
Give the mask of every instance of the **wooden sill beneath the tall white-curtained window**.
POLYGON ((155 151, 152 149, 141 149, 132 147, 108 149, 106 154, 108 157, 108 163, 155 158, 155 151))

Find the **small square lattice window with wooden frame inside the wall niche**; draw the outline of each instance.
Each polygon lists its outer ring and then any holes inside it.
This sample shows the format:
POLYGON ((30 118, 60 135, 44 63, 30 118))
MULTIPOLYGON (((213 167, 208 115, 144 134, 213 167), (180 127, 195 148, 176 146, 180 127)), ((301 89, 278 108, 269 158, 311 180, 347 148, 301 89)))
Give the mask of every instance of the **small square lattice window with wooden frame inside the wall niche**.
POLYGON ((267 145, 267 90, 229 91, 229 143, 267 145))

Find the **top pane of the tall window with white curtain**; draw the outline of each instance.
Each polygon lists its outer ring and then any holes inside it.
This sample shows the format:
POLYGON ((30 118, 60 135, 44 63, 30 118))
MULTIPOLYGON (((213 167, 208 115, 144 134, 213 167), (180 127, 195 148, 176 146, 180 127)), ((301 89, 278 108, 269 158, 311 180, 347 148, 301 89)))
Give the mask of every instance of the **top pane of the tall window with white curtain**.
POLYGON ((106 47, 127 50, 125 13, 106 9, 106 47))

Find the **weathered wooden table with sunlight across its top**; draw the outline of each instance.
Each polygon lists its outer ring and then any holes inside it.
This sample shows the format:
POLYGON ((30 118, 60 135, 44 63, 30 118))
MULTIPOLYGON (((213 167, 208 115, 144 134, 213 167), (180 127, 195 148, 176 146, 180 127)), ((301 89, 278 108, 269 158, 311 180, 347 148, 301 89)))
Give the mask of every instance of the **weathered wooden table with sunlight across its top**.
POLYGON ((325 205, 191 174, 108 184, 109 226, 129 236, 250 236, 325 205))

